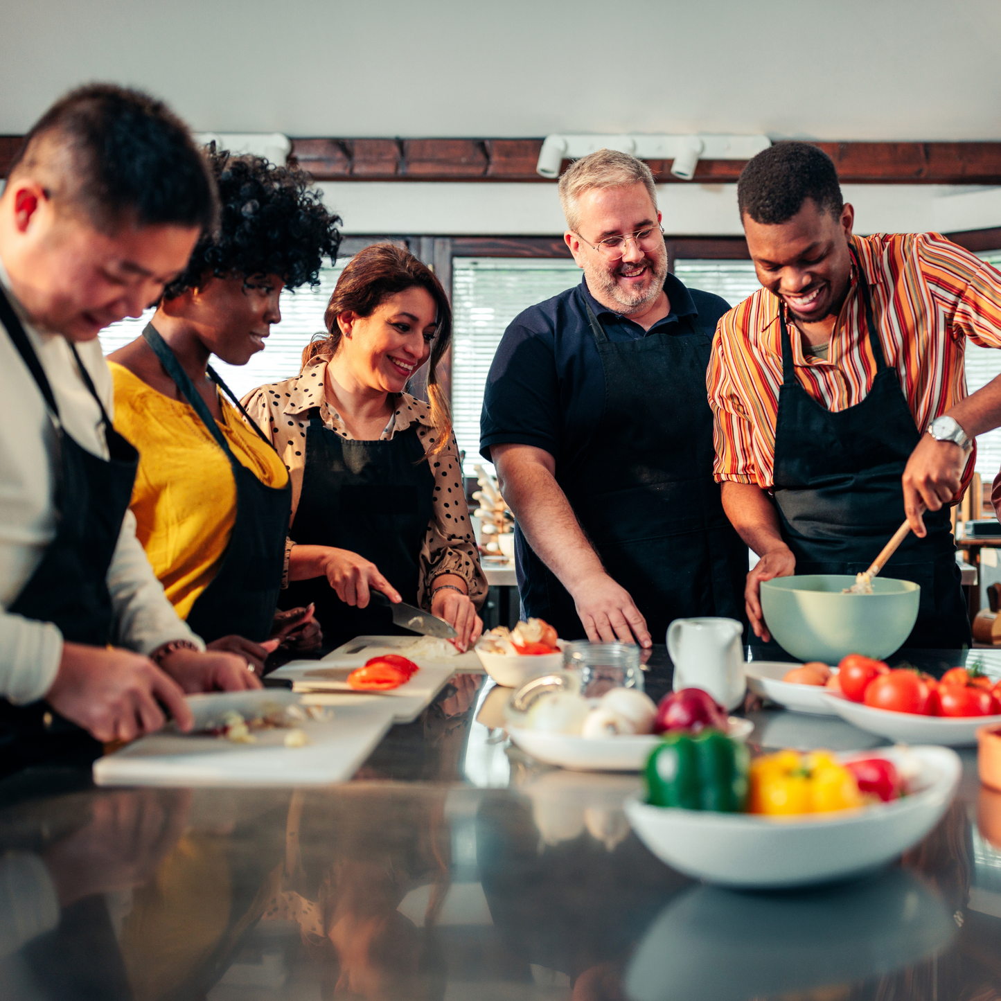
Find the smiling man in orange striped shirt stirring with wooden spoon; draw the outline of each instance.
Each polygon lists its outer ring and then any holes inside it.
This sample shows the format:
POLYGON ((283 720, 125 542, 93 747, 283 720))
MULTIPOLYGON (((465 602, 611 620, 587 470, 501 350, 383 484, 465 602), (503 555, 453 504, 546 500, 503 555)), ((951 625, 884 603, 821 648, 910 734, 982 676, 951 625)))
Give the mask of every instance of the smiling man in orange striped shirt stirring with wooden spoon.
POLYGON ((808 143, 759 153, 737 190, 764 287, 720 320, 707 382, 724 508, 761 557, 756 635, 762 581, 865 571, 906 517, 882 572, 921 586, 905 646, 969 644, 948 505, 1001 422, 1001 380, 966 397, 963 369, 967 337, 1001 347, 1001 275, 938 233, 853 235, 808 143))

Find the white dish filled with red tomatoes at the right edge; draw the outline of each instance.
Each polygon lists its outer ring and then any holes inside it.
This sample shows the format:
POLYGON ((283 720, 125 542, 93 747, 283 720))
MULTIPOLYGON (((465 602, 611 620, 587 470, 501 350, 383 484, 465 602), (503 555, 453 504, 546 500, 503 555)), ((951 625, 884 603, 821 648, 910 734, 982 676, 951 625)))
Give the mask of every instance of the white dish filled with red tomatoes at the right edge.
POLYGON ((976 668, 952 668, 936 680, 850 654, 838 679, 840 692, 825 693, 828 705, 852 726, 889 740, 967 747, 981 727, 1001 724, 1001 682, 976 668))

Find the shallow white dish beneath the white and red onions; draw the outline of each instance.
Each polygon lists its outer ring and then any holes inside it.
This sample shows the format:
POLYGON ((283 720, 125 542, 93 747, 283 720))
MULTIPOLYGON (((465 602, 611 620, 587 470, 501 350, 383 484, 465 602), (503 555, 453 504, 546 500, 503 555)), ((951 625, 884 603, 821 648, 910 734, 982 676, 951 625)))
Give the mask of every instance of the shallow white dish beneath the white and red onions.
MULTIPOLYGON (((744 741, 754 730, 750 720, 730 717, 728 736, 744 741)), ((664 740, 662 734, 632 737, 589 738, 580 734, 554 734, 545 730, 508 727, 511 739, 527 754, 546 765, 572 772, 640 772, 650 753, 664 740)))

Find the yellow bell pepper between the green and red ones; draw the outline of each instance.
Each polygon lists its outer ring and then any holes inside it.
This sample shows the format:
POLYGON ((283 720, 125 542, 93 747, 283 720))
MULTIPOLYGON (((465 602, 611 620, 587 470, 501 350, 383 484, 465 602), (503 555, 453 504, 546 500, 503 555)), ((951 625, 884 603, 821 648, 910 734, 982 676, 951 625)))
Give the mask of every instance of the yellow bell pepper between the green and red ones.
POLYGON ((779 751, 751 762, 750 812, 829 813, 865 805, 855 776, 826 751, 779 751))

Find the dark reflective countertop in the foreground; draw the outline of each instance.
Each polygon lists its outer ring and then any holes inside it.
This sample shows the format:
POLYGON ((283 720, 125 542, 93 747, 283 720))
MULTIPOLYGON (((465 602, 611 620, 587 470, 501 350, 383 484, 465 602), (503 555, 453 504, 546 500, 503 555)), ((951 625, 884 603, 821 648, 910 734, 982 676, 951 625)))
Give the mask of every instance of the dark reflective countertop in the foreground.
MULTIPOLYGON (((1001 674, 995 656, 969 658, 1001 674)), ((646 668, 659 698, 663 648, 646 668)), ((900 864, 735 893, 640 844, 621 810, 637 776, 512 748, 509 694, 453 679, 325 789, 98 790, 68 773, 0 788, 0 1001, 1001 999, 1001 794, 972 749, 956 802, 900 864)), ((883 743, 834 718, 747 715, 758 747, 883 743)))

